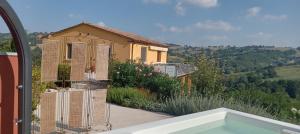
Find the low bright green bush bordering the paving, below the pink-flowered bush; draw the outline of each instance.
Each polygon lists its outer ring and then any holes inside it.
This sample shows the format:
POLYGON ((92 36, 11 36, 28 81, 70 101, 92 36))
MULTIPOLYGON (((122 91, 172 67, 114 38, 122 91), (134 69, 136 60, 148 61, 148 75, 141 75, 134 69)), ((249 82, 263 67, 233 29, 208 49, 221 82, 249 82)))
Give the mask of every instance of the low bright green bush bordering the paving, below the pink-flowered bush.
POLYGON ((147 90, 136 88, 110 88, 107 102, 125 107, 155 110, 155 96, 147 90))

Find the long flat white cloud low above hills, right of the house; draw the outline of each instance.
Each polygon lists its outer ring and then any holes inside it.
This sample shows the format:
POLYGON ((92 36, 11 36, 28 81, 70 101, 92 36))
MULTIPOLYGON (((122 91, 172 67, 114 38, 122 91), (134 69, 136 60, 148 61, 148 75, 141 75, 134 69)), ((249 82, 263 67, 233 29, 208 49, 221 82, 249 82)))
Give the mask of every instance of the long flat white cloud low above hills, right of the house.
POLYGON ((233 25, 231 25, 229 22, 225 22, 222 20, 219 21, 206 20, 204 22, 198 22, 196 23, 196 27, 203 30, 215 30, 215 31, 225 31, 225 32, 240 30, 240 28, 236 28, 233 25))

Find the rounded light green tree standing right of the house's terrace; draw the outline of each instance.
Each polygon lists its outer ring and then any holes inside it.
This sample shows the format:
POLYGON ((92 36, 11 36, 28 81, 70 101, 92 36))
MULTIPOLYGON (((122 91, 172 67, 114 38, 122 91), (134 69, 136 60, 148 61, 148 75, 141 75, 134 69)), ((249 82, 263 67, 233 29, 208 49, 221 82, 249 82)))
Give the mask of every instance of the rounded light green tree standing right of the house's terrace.
POLYGON ((195 90, 204 95, 215 95, 223 92, 223 74, 218 68, 216 61, 200 55, 196 62, 197 71, 192 75, 195 90))

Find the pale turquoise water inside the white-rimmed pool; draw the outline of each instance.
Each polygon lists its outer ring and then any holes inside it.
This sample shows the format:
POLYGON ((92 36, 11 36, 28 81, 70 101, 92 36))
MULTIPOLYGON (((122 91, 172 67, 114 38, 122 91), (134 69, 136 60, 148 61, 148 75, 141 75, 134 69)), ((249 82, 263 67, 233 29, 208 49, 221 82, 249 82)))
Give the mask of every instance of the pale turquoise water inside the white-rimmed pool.
POLYGON ((207 123, 172 134, 280 134, 280 131, 230 119, 207 123))

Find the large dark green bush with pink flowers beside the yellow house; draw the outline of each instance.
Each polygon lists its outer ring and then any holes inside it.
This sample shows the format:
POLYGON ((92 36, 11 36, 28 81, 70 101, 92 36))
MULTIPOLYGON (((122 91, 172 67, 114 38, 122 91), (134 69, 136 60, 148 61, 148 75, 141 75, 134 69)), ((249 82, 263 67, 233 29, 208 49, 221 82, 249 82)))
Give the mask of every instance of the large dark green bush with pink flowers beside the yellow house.
POLYGON ((117 63, 110 66, 111 85, 114 87, 138 87, 149 89, 158 98, 167 98, 180 90, 175 78, 154 72, 153 67, 133 62, 117 63))

